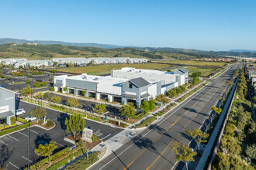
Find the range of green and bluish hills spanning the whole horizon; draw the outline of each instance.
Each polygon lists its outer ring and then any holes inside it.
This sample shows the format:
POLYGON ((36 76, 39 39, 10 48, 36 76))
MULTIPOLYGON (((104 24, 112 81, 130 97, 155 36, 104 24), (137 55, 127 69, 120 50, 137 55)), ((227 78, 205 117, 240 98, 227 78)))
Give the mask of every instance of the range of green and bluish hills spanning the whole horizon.
MULTIPOLYGON (((78 56, 131 56, 131 57, 147 57, 151 59, 175 58, 175 59, 190 59, 190 58, 216 58, 220 56, 244 56, 256 57, 256 51, 246 49, 231 49, 230 51, 204 51, 198 49, 179 49, 171 47, 137 47, 137 46, 116 46, 111 44, 98 43, 77 43, 77 42, 62 42, 62 41, 40 41, 26 39, 0 39, 0 46, 3 49, 5 44, 18 44, 19 46, 9 47, 8 51, 16 51, 14 56, 23 51, 28 51, 32 54, 41 53, 42 57, 57 57, 60 55, 78 55, 78 56), (22 46, 24 43, 37 43, 45 46, 22 46), (48 45, 48 46, 47 46, 48 45), (18 48, 19 47, 19 48, 18 48), (54 49, 56 48, 56 49, 54 49), (15 50, 14 50, 15 49, 15 50), (40 52, 38 52, 40 50, 40 52), (45 51, 43 51, 45 50, 45 51), (102 53, 100 53, 102 52, 102 53), (47 55, 46 55, 47 54, 47 55), (49 54, 49 55, 48 55, 49 54), (59 54, 59 55, 57 55, 59 54), (111 54, 111 55, 110 55, 111 54)), ((6 46, 5 46, 6 47, 6 46)), ((2 52, 4 52, 2 51, 2 52)), ((27 57, 28 54, 26 54, 27 57)), ((30 55, 30 56, 31 56, 30 55)), ((22 56, 22 55, 19 55, 22 56)), ((33 56, 33 55, 32 55, 33 56)), ((0 57, 2 55, 0 54, 0 57)))

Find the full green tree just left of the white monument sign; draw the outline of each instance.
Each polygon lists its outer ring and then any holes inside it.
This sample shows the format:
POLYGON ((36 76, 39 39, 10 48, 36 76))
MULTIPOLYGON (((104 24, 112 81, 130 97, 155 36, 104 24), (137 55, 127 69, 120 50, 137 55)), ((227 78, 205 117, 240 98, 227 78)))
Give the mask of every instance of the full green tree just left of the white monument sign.
POLYGON ((81 117, 81 114, 74 114, 66 118, 65 125, 67 126, 67 133, 73 134, 74 138, 77 133, 80 133, 85 128, 85 119, 81 117))

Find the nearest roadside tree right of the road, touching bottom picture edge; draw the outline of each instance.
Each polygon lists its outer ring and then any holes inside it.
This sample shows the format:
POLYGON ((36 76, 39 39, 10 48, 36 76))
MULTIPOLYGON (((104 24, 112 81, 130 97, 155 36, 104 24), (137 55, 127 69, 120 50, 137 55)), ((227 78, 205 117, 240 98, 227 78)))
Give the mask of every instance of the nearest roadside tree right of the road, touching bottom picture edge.
POLYGON ((196 155, 195 151, 192 151, 192 148, 189 148, 188 145, 178 145, 177 142, 171 147, 173 151, 175 151, 176 154, 176 160, 177 162, 185 162, 185 165, 187 167, 187 170, 189 169, 188 165, 189 162, 194 162, 195 159, 193 156, 196 155))

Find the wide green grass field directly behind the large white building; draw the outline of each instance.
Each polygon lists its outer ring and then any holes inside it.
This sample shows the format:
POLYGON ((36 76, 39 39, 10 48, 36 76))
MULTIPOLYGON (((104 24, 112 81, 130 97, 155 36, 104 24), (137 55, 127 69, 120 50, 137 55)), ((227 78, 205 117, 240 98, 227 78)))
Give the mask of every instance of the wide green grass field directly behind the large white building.
POLYGON ((102 75, 109 74, 111 70, 119 70, 123 67, 133 67, 136 69, 147 69, 147 70, 157 70, 161 68, 168 67, 168 64, 158 64, 158 63, 140 63, 140 64, 113 64, 113 65, 99 65, 99 66, 82 66, 82 67, 72 67, 58 69, 58 71, 65 71, 69 73, 88 73, 91 75, 102 75))

